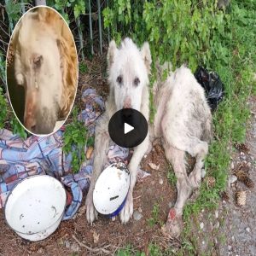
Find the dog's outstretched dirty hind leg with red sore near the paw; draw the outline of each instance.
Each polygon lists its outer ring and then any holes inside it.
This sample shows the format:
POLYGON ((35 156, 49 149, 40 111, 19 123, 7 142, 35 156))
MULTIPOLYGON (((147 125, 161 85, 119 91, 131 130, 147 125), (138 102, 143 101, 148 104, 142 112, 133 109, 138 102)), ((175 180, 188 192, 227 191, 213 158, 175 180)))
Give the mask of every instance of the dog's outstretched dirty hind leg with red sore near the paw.
POLYGON ((175 206, 170 210, 166 222, 168 235, 177 237, 182 230, 183 207, 189 195, 192 193, 192 187, 185 167, 185 152, 164 143, 166 158, 172 163, 173 170, 177 177, 177 201, 175 206))

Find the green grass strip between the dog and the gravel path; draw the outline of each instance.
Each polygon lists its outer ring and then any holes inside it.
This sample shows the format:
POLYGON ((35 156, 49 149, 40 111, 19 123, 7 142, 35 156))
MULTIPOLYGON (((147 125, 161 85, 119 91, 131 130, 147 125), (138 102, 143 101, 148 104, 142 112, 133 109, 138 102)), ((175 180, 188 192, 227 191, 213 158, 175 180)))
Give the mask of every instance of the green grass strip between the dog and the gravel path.
MULTIPOLYGON (((199 253, 192 232, 193 228, 198 230, 198 227, 192 217, 202 209, 211 212, 218 207, 220 193, 227 185, 232 144, 245 140, 247 120, 250 117, 247 100, 250 95, 256 94, 256 83, 253 80, 253 73, 256 73, 256 2, 231 1, 226 16, 226 20, 223 20, 226 22, 224 32, 216 33, 212 38, 212 47, 218 46, 223 50, 216 50, 216 55, 212 54, 211 60, 207 62, 207 67, 219 74, 225 88, 224 101, 213 114, 214 140, 205 163, 207 176, 215 177, 216 184, 212 189, 207 189, 206 183, 202 183, 197 200, 184 207, 185 226, 181 235, 181 247, 175 255, 199 253)), ((175 184, 173 172, 169 171, 167 177, 171 184, 175 184)), ((222 243, 225 242, 224 234, 220 234, 218 238, 222 243)), ((209 253, 205 252, 206 255, 210 255, 209 253)), ((172 255, 172 252, 161 251, 154 244, 150 255, 172 255)))

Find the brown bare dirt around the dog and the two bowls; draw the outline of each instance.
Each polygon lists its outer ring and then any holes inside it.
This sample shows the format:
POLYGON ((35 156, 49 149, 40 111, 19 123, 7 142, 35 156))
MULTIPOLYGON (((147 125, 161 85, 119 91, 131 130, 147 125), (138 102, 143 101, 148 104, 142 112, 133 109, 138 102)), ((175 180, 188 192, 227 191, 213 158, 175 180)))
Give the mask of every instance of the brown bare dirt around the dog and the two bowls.
MULTIPOLYGON (((79 89, 76 105, 80 106, 81 92, 88 88, 96 88, 104 99, 108 96, 105 56, 98 56, 86 62, 89 70, 79 76, 79 89)), ((68 122, 72 119, 68 119, 68 122)), ((142 162, 143 170, 151 176, 145 177, 136 185, 134 191, 135 217, 128 224, 121 224, 119 217, 114 221, 100 217, 92 226, 85 220, 84 204, 73 220, 61 222, 54 235, 44 241, 26 241, 9 229, 0 211, 0 255, 106 255, 113 254, 119 248, 132 244, 134 248, 147 251, 151 241, 158 242, 161 247, 168 247, 169 241, 161 236, 160 224, 166 222, 170 205, 175 201, 176 189, 167 180, 169 165, 163 149, 156 145, 142 162), (159 165, 159 170, 152 169, 148 163, 159 165), (155 204, 160 208, 157 224, 151 228, 148 224, 155 204)), ((85 196, 84 196, 85 200, 85 196)))

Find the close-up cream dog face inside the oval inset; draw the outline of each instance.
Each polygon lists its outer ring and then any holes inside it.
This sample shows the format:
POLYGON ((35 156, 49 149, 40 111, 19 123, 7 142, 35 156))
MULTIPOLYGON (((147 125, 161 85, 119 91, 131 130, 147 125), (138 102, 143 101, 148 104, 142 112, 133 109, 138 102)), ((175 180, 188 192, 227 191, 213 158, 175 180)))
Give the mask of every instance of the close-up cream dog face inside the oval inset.
POLYGON ((34 133, 53 131, 61 108, 61 57, 53 31, 24 20, 15 55, 17 83, 26 92, 24 125, 34 133))

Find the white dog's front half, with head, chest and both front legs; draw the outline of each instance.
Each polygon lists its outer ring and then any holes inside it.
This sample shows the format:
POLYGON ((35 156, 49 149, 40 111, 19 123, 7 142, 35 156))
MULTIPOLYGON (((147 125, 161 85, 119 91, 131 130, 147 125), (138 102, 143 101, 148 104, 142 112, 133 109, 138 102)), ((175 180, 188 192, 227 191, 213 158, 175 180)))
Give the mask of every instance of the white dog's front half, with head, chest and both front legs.
MULTIPOLYGON (((98 120, 95 136, 95 158, 90 180, 90 189, 86 197, 86 218, 92 223, 97 218, 97 212, 92 202, 92 192, 96 179, 102 172, 106 161, 106 154, 110 142, 108 135, 108 121, 113 113, 121 108, 134 108, 143 113, 148 120, 149 94, 148 74, 150 73, 151 55, 148 43, 138 49, 130 38, 125 38, 117 48, 114 41, 108 48, 108 81, 110 92, 106 102, 106 112, 98 120)), ((131 174, 131 185, 119 216, 122 223, 127 223, 133 213, 132 191, 136 183, 137 167, 146 153, 149 136, 143 143, 134 148, 128 169, 131 174)))

